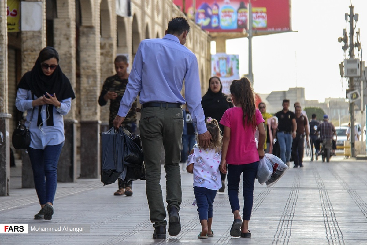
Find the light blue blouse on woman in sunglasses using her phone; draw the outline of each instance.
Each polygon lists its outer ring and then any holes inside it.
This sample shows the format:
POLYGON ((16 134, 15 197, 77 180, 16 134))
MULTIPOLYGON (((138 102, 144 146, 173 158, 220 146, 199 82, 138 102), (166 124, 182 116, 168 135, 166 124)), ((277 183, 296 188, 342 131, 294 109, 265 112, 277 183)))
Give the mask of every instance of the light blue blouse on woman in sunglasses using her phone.
POLYGON ((68 114, 71 108, 71 98, 60 101, 59 109, 54 107, 54 126, 47 126, 46 120, 48 118, 47 105, 42 107, 32 107, 32 94, 30 90, 18 89, 17 98, 15 99, 15 106, 19 111, 27 111, 27 122, 25 126, 29 127, 31 142, 29 147, 34 149, 44 149, 47 145, 58 145, 65 141, 64 135, 64 120, 63 116, 68 114), (38 110, 41 108, 42 122, 37 126, 38 110), (29 120, 33 112, 32 122, 29 120))

